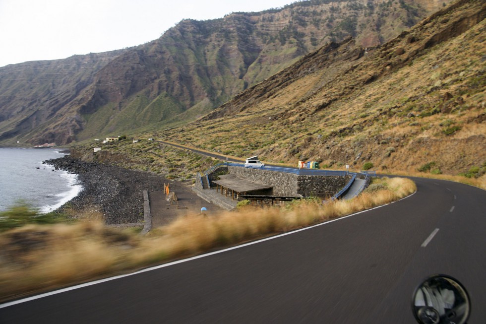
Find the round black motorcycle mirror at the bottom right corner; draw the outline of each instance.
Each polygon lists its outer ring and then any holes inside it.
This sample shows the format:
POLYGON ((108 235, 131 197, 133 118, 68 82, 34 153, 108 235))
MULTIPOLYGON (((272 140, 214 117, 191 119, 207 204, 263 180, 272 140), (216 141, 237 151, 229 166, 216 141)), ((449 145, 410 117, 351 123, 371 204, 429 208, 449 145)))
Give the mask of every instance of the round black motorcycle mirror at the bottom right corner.
POLYGON ((415 288, 412 310, 421 324, 465 324, 471 303, 468 292, 457 279, 436 274, 415 288))

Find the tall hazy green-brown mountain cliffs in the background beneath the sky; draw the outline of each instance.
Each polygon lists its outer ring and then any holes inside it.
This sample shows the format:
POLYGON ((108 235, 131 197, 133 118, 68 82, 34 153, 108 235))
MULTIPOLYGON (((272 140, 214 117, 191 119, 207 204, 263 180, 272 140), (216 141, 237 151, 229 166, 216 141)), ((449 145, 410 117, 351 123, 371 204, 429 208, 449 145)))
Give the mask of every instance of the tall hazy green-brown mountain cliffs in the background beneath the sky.
POLYGON ((0 142, 67 144, 195 120, 330 42, 390 40, 449 0, 310 0, 183 20, 134 48, 0 68, 0 142))

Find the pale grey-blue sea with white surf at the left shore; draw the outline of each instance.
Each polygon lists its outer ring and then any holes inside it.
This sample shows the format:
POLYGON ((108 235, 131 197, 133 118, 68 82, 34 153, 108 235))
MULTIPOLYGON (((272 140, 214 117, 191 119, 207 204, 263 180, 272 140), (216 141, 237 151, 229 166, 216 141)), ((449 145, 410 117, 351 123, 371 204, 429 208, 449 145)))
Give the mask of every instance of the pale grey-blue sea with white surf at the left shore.
POLYGON ((23 200, 47 213, 79 194, 76 175, 42 164, 64 155, 56 149, 0 148, 0 211, 23 200))

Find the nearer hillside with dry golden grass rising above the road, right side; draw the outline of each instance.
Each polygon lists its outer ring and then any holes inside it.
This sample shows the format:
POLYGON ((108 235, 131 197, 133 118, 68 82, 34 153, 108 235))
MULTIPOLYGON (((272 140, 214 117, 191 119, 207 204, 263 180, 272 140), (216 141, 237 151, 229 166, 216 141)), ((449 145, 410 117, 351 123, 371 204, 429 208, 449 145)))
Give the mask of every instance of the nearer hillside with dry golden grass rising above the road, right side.
POLYGON ((455 174, 486 165, 486 3, 460 0, 388 43, 330 43, 158 136, 269 162, 371 162, 455 174))

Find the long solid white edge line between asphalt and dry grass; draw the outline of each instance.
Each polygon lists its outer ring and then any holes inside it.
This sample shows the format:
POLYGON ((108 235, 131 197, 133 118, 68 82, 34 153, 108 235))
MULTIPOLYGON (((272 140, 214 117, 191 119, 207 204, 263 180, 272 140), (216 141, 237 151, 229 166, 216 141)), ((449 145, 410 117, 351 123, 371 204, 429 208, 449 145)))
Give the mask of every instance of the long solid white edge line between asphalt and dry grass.
MULTIPOLYGON (((407 199, 407 198, 413 196, 416 193, 417 193, 417 191, 415 191, 413 194, 410 194, 410 195, 408 195, 406 197, 403 197, 402 199, 399 199, 397 201, 401 201, 403 199, 407 199)), ((261 242, 265 242, 265 241, 277 239, 279 237, 283 237, 283 236, 286 236, 286 235, 291 235, 291 234, 298 233, 298 232, 301 232, 301 231, 305 231, 305 230, 308 230, 308 229, 311 229, 311 228, 314 228, 314 227, 317 227, 317 226, 322 226, 322 225, 329 224, 329 223, 332 223, 332 222, 336 222, 338 220, 342 220, 342 219, 345 219, 345 218, 348 218, 348 217, 351 217, 351 216, 355 216, 355 215, 358 215, 358 214, 361 214, 361 213, 364 213, 364 212, 367 212, 367 211, 370 211, 370 210, 373 210, 373 209, 381 208, 381 207, 390 205, 392 203, 395 203, 397 201, 392 201, 390 203, 387 203, 387 204, 384 204, 384 205, 381 205, 381 206, 376 206, 376 207, 373 207, 373 208, 370 208, 370 209, 362 210, 362 211, 359 211, 357 213, 354 213, 354 214, 351 214, 351 215, 348 215, 348 216, 343 216, 343 217, 340 217, 340 218, 332 219, 332 220, 329 220, 329 221, 324 222, 324 223, 319 223, 319 224, 312 225, 312 226, 309 226, 309 227, 304 227, 304 228, 301 228, 301 229, 298 229, 298 230, 295 230, 295 231, 292 231, 292 232, 287 232, 287 233, 283 233, 283 234, 279 234, 279 235, 267 237, 265 239, 261 239, 261 240, 253 241, 253 242, 249 242, 249 243, 245 243, 245 244, 238 245, 238 246, 231 247, 231 248, 227 248, 227 249, 224 249, 224 250, 214 251, 214 252, 202 254, 202 255, 195 256, 195 257, 188 258, 188 259, 182 259, 182 260, 177 260, 177 261, 173 261, 173 262, 169 262, 169 263, 164 263, 164 264, 156 265, 156 266, 153 266, 153 267, 150 267, 150 268, 145 268, 145 269, 142 269, 142 270, 139 270, 139 271, 136 271, 136 272, 126 273, 126 274, 121 274, 121 275, 114 276, 114 277, 109 277, 109 278, 104 278, 104 279, 100 279, 100 280, 96 280, 96 281, 86 282, 86 283, 83 283, 83 284, 80 284, 80 285, 66 287, 66 288, 62 288, 62 289, 50 291, 50 292, 47 292, 47 293, 43 293, 43 294, 40 294, 40 295, 35 295, 35 296, 31 296, 31 297, 27 297, 27 298, 23 298, 23 299, 19 299, 19 300, 14 300, 14 301, 11 301, 11 302, 7 302, 7 303, 4 303, 4 304, 0 304, 0 309, 5 308, 5 307, 9 307, 9 306, 13 306, 13 305, 17 305, 17 304, 22 304, 22 303, 30 302, 32 300, 41 299, 41 298, 48 297, 48 296, 52 296, 52 295, 61 294, 63 292, 67 292, 67 291, 71 291, 71 290, 76 290, 76 289, 79 289, 79 288, 84 288, 84 287, 96 285, 96 284, 103 283, 103 282, 107 282, 107 281, 111 281, 111 280, 121 279, 121 278, 124 278, 124 277, 136 275, 136 274, 139 274, 139 273, 143 273, 143 272, 147 272, 147 271, 152 271, 152 270, 157 270, 157 269, 165 268, 167 266, 171 266, 171 265, 175 265, 175 264, 179 264, 179 263, 183 263, 183 262, 187 262, 187 261, 192 261, 192 260, 200 259, 200 258, 204 258, 204 257, 209 257, 209 256, 212 256, 212 255, 215 255, 215 254, 220 254, 220 253, 224 253, 224 252, 227 252, 227 251, 232 251, 232 250, 240 249, 240 248, 243 248, 243 247, 246 247, 246 246, 249 246, 249 245, 258 244, 258 243, 261 243, 261 242)))

